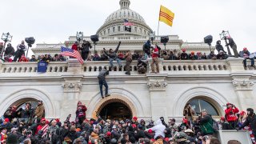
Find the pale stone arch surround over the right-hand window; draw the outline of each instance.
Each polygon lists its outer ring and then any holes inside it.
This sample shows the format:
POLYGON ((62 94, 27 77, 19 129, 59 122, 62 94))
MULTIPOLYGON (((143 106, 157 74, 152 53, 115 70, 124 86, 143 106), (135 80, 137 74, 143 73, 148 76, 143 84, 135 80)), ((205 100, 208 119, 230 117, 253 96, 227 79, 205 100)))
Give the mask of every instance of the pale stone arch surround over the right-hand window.
POLYGON ((186 103, 189 102, 192 98, 206 99, 208 102, 215 106, 220 115, 224 114, 222 106, 226 105, 226 102, 228 102, 222 94, 218 93, 218 91, 212 90, 208 87, 193 87, 189 90, 186 90, 174 100, 174 115, 182 117, 183 109, 186 106, 186 103))

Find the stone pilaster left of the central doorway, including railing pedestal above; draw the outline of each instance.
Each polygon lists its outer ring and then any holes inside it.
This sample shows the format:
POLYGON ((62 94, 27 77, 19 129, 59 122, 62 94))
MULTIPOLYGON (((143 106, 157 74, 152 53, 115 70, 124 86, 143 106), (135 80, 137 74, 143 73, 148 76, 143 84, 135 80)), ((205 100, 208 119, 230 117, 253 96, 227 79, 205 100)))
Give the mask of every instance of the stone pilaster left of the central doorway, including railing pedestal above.
POLYGON ((82 89, 82 65, 77 59, 70 59, 68 61, 67 72, 68 74, 62 75, 64 82, 62 82, 63 98, 60 115, 61 120, 65 121, 68 114, 71 114, 70 121, 74 121, 75 111, 82 89))

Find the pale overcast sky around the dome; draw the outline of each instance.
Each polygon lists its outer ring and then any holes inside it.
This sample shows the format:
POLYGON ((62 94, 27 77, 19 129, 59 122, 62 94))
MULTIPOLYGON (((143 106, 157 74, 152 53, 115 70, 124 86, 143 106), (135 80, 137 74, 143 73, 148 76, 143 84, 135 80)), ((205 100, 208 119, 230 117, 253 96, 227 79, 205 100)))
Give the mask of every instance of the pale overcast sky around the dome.
MULTIPOLYGON (((256 51, 255 0, 130 0, 130 9, 158 29, 160 5, 175 13, 172 27, 160 22, 159 35, 178 34, 184 42, 202 42, 212 34, 213 45, 222 30, 229 30, 238 50, 256 51)), ((1 0, 0 33, 13 35, 13 46, 30 36, 36 43, 59 43, 83 31, 95 34, 119 0, 1 0)), ((222 42, 223 44, 224 42, 222 42)), ((35 45, 34 45, 35 46, 35 45)), ((33 47, 34 47, 33 46, 33 47)))

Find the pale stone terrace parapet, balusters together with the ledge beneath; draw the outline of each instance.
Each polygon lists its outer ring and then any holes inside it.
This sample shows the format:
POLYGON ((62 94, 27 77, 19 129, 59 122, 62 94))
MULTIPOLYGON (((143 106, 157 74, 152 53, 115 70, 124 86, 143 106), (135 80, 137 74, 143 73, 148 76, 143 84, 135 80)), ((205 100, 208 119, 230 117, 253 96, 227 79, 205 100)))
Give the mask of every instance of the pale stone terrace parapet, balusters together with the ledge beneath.
MULTIPOLYGON (((148 60, 148 71, 150 74, 151 59, 148 60)), ((1 62, 0 74, 2 77, 19 77, 19 76, 61 76, 62 74, 74 73, 72 69, 76 69, 78 73, 84 76, 97 76, 98 71, 102 68, 110 70, 110 75, 125 76, 125 61, 122 61, 122 68, 114 63, 114 69, 110 69, 108 61, 84 62, 80 65, 76 59, 69 59, 67 62, 50 62, 47 71, 44 74, 37 73, 37 62, 1 62)), ((210 76, 210 75, 230 75, 232 73, 253 73, 256 70, 245 70, 242 66, 242 58, 228 58, 226 60, 197 60, 197 61, 164 61, 159 62, 160 74, 168 76, 186 77, 190 75, 210 76)), ((137 73, 137 61, 131 64, 131 75, 139 75, 137 73)), ((143 75, 143 74, 142 74, 143 75)), ((145 75, 145 74, 144 74, 145 75)), ((157 75, 157 74, 156 74, 157 75)))

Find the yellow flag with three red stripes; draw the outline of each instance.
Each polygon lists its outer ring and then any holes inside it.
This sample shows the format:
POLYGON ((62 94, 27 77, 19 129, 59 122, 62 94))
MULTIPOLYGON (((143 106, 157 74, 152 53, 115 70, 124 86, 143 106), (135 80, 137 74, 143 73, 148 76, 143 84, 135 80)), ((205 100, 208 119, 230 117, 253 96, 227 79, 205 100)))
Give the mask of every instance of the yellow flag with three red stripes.
POLYGON ((159 21, 165 22, 168 26, 173 26, 174 13, 165 6, 160 7, 159 21))

